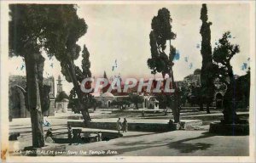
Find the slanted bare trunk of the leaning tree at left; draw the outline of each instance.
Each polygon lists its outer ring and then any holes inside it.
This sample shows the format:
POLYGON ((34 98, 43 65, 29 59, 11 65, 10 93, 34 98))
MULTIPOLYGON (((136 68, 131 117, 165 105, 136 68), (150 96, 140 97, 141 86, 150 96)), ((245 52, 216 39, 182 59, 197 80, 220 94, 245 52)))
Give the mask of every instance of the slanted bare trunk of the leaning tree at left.
POLYGON ((84 123, 87 124, 91 119, 90 119, 90 115, 89 115, 89 111, 87 108, 87 105, 84 104, 84 100, 83 100, 83 94, 82 91, 79 87, 79 83, 75 74, 75 70, 74 70, 74 65, 73 65, 73 61, 70 61, 67 64, 67 72, 69 73, 71 80, 73 82, 73 87, 78 95, 79 98, 79 110, 81 111, 81 114, 83 115, 84 118, 84 123))

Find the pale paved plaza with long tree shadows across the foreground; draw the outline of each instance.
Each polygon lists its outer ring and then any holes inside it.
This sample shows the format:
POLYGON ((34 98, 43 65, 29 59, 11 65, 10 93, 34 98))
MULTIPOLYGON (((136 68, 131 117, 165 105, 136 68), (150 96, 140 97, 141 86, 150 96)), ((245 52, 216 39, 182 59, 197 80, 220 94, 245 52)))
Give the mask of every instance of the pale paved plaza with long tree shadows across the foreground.
MULTIPOLYGON (((93 114, 102 114, 100 111, 93 114)), ((92 114, 92 115, 93 115, 92 114)), ((68 116, 66 114, 45 117, 51 124, 53 133, 67 132, 68 116), (65 117, 66 118, 63 118, 65 117)), ((101 119, 95 121, 114 121, 114 119, 101 119)), ((80 121, 80 120, 72 120, 80 121)), ((128 121, 153 121, 142 119, 128 119, 128 121)), ((166 121, 166 120, 158 120, 166 121)), ((206 125, 208 126, 208 125, 206 125)), ((66 153, 62 155, 122 155, 122 156, 247 156, 249 155, 249 136, 217 136, 210 134, 208 128, 196 126, 191 130, 177 130, 172 132, 125 132, 122 138, 96 143, 68 143, 65 146, 66 153), (82 153, 80 153, 82 151, 82 153), (104 151, 105 153, 102 153, 104 151), (84 153, 83 153, 84 152, 84 153)), ((44 126, 44 131, 49 126, 44 126)), ((9 125, 10 132, 20 132, 18 141, 10 141, 10 149, 24 149, 32 144, 31 123, 29 118, 14 119, 9 125), (22 122, 22 123, 21 123, 22 122), (21 125, 22 124, 22 125, 21 125)), ((83 131, 117 132, 84 128, 83 131)), ((56 144, 60 145, 60 144, 56 144)), ((11 153, 11 155, 16 155, 11 153)))

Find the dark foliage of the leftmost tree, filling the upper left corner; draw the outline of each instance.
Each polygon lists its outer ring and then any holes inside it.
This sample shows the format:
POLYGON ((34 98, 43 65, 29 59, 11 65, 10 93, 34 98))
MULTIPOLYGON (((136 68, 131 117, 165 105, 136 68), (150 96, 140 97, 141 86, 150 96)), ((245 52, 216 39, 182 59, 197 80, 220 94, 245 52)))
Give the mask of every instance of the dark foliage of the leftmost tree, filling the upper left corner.
POLYGON ((9 5, 9 56, 39 53, 44 41, 44 8, 42 5, 9 5), (27 53, 31 52, 31 53, 27 53))

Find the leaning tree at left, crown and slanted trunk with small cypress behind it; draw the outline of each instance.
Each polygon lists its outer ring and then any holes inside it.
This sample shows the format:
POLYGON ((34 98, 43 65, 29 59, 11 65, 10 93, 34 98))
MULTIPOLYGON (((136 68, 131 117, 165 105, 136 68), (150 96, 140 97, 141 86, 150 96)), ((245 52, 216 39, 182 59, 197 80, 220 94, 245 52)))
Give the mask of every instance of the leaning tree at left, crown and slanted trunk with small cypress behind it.
POLYGON ((90 121, 88 109, 90 108, 92 97, 89 93, 82 93, 79 86, 84 77, 91 76, 90 65, 86 65, 90 64, 88 50, 85 48, 83 50, 83 71, 73 62, 79 58, 81 48, 77 42, 80 37, 84 36, 88 26, 84 19, 79 18, 77 8, 72 4, 50 7, 47 10, 47 15, 49 15, 49 21, 45 24, 45 29, 51 32, 45 35, 45 50, 49 56, 55 56, 61 62, 61 73, 66 77, 67 82, 73 82, 73 93, 70 96, 70 101, 72 103, 72 98, 76 95, 79 98, 77 108, 81 110, 84 122, 90 121))

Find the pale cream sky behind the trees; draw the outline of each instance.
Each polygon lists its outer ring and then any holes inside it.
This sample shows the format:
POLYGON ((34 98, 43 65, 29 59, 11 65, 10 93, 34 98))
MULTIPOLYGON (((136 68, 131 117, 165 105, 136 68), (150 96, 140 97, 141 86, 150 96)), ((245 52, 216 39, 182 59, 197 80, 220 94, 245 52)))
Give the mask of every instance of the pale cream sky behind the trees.
MULTIPOLYGON (((81 4, 78 14, 84 18, 88 31, 78 43, 81 47, 85 44, 90 52, 92 76, 103 76, 105 70, 108 77, 154 77, 147 65, 151 57, 149 33, 151 20, 160 8, 171 12, 172 31, 177 34, 172 40, 179 53, 173 66, 175 80, 181 81, 195 69, 201 69, 201 4, 81 4)), ((212 22, 212 49, 223 33, 230 31, 230 42, 238 44, 241 50, 231 59, 231 65, 236 75, 244 75, 247 67, 243 65, 249 63, 250 56, 249 4, 207 4, 207 8, 208 20, 212 22)), ((55 58, 47 59, 45 53, 44 56, 44 77, 57 79, 61 75, 60 63, 55 58)), ((81 60, 80 57, 75 64, 80 66, 81 60)), ((9 64, 16 65, 10 70, 11 75, 26 75, 21 58, 9 59, 9 64)), ((64 80, 64 76, 61 78, 64 80)), ((67 93, 72 87, 63 81, 67 93)))

